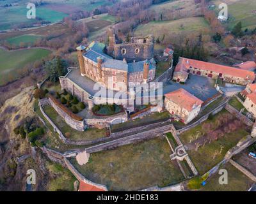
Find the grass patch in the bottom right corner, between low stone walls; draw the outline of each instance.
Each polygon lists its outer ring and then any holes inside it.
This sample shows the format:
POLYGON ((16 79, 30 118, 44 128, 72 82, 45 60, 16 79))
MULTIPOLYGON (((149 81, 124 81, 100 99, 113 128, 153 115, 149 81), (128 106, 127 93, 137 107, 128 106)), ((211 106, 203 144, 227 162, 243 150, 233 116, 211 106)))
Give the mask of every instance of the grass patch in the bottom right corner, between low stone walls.
POLYGON ((248 191, 253 181, 246 177, 241 171, 237 170, 232 164, 227 163, 221 167, 228 171, 228 184, 220 185, 220 175, 213 175, 200 191, 248 191))

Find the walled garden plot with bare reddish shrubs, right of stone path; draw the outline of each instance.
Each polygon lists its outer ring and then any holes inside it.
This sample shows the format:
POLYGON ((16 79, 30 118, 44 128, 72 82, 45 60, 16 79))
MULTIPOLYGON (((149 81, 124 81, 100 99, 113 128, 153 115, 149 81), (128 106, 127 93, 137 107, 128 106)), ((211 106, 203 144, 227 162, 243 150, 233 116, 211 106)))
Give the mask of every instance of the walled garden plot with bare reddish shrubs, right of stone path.
POLYGON ((188 154, 196 169, 203 175, 218 164, 227 151, 249 133, 245 126, 233 115, 222 110, 195 128, 180 135, 180 140, 187 147, 188 154))

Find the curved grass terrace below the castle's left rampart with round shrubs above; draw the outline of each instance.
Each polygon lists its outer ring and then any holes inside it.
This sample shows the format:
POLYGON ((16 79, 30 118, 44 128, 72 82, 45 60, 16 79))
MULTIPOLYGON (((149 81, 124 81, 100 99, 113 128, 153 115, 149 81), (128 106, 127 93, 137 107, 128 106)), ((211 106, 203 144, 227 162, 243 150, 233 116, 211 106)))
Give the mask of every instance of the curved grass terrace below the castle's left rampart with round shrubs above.
POLYGON ((58 115, 58 113, 51 106, 44 108, 45 113, 51 118, 52 122, 60 128, 61 132, 71 140, 95 140, 106 136, 106 129, 89 128, 84 132, 77 131, 70 128, 66 122, 58 115), (68 136, 70 135, 70 136, 68 136))

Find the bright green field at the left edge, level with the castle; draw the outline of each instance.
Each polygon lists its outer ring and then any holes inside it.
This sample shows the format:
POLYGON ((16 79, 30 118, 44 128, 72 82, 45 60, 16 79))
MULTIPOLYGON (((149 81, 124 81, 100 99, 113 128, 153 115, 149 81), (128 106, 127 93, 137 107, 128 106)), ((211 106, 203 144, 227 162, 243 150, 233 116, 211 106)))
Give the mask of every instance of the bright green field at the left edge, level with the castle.
POLYGON ((6 51, 0 48, 0 85, 22 76, 22 68, 51 54, 42 48, 6 51))

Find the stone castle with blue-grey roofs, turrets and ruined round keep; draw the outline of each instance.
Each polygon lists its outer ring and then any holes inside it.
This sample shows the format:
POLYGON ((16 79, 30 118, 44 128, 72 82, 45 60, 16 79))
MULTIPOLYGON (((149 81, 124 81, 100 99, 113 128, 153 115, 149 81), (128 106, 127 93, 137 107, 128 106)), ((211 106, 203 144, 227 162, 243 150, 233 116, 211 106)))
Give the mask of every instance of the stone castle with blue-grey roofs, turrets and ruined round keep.
POLYGON ((154 80, 154 36, 132 37, 118 44, 113 29, 109 29, 108 39, 108 47, 96 41, 88 47, 77 47, 81 76, 123 92, 129 83, 139 85, 154 80))

